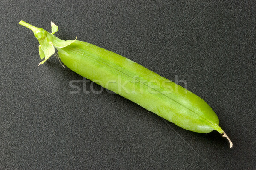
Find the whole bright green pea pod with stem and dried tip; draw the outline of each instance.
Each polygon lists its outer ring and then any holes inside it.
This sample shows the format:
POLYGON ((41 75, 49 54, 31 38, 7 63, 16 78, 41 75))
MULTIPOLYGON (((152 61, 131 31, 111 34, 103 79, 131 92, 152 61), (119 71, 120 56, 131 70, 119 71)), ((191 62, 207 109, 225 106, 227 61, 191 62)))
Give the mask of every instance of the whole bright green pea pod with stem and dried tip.
MULTIPOLYGON (((217 130, 219 119, 203 99, 159 76, 153 71, 119 54, 78 40, 61 40, 53 34, 58 26, 52 23, 52 33, 24 21, 20 24, 31 29, 39 41, 39 63, 43 64, 56 48, 61 61, 71 70, 87 79, 146 108, 164 119, 193 132, 209 133, 217 130)), ((232 142, 230 142, 230 148, 232 142)))

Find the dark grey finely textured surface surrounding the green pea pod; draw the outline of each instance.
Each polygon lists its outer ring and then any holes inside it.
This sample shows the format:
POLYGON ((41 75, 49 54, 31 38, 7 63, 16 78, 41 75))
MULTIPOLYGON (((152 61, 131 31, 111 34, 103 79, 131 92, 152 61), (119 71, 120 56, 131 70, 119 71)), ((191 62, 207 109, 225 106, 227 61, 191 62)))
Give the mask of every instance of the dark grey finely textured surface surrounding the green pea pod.
POLYGON ((255 168, 255 0, 2 0, 0 11, 0 169, 255 168), (37 67, 38 41, 20 20, 47 31, 53 21, 63 40, 178 75, 233 149, 216 131, 183 130, 117 94, 70 94, 83 78, 54 56, 37 67))

